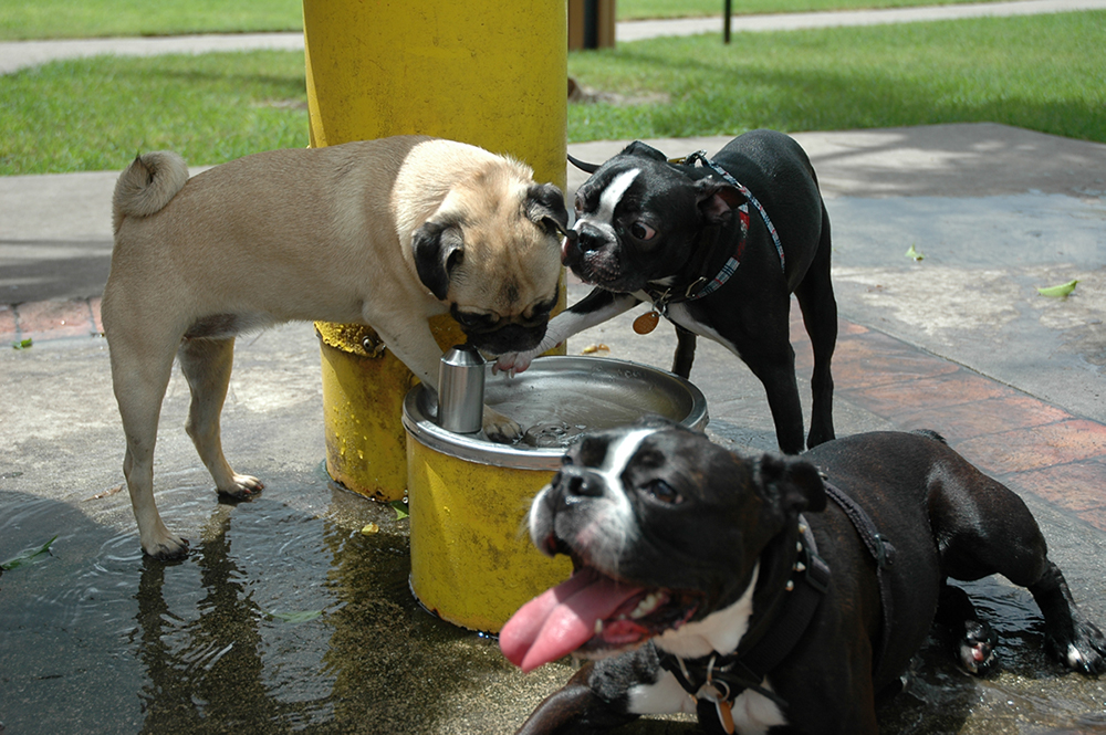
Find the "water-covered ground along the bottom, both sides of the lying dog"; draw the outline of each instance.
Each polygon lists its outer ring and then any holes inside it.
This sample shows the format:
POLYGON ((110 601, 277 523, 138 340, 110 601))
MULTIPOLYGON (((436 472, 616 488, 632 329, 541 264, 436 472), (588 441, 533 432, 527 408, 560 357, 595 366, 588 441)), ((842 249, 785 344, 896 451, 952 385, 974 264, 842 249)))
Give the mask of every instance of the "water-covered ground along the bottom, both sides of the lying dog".
MULTIPOLYGON (((387 505, 317 476, 274 479, 238 505, 217 504, 199 474, 176 480, 158 498, 191 534, 176 564, 74 506, 0 494, 0 559, 59 534, 49 556, 0 576, 3 735, 510 733, 572 671, 523 676, 492 641, 426 613, 408 589, 407 522, 387 505), (378 533, 363 535, 368 523, 378 533)), ((1106 733, 1106 684, 1046 660, 1027 592, 966 587, 1002 638, 1001 672, 970 678, 931 642, 881 732, 1106 733)))

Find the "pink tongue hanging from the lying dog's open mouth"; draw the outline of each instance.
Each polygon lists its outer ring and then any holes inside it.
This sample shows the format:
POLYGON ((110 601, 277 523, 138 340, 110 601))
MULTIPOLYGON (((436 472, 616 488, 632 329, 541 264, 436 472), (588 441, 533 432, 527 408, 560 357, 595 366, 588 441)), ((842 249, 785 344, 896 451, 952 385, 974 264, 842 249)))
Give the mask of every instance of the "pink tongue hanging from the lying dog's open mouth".
POLYGON ((523 671, 556 661, 591 640, 596 620, 641 591, 585 567, 519 608, 500 631, 499 648, 523 671))

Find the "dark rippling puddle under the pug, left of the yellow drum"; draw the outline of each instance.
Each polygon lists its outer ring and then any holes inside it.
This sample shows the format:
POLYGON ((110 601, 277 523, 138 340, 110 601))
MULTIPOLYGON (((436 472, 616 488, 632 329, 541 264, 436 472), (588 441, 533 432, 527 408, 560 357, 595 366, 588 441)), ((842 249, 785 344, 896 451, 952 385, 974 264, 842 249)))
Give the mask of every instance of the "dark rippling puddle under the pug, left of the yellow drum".
POLYGON ((4 559, 65 528, 51 555, 0 577, 4 735, 436 733, 427 703, 442 690, 514 674, 490 641, 419 608, 406 522, 387 505, 304 513, 305 492, 347 495, 322 482, 237 506, 186 490, 200 500, 161 503, 170 526, 199 532, 176 564, 71 506, 0 498, 4 559), (363 535, 369 519, 379 532, 363 535))

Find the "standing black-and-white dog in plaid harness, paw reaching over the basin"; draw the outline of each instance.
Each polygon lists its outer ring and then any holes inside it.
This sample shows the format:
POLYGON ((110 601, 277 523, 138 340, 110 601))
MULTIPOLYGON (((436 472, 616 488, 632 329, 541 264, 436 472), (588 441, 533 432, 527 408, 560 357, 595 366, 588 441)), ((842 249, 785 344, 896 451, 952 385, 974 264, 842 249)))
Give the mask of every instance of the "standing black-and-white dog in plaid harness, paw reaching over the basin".
POLYGON ((538 348, 500 357, 522 371, 534 356, 641 302, 648 332, 662 315, 676 325, 672 371, 688 377, 696 335, 721 343, 764 385, 780 448, 804 448, 803 412, 791 347, 791 294, 814 349, 810 434, 834 438, 830 361, 837 304, 830 281, 830 217, 800 145, 772 130, 747 133, 713 158, 669 162, 643 143, 603 164, 576 192, 576 222, 562 262, 586 297, 555 317, 538 348))

